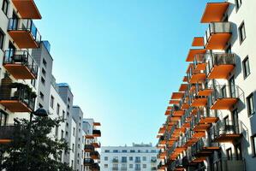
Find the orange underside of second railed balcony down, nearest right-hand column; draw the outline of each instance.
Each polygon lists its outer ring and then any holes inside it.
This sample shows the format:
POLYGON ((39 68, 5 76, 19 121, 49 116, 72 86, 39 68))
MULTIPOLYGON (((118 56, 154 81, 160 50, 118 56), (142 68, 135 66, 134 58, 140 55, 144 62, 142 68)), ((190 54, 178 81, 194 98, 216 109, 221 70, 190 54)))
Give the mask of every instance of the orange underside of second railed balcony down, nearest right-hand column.
POLYGON ((208 79, 227 79, 229 74, 235 68, 234 65, 218 65, 211 68, 211 72, 208 74, 208 79))

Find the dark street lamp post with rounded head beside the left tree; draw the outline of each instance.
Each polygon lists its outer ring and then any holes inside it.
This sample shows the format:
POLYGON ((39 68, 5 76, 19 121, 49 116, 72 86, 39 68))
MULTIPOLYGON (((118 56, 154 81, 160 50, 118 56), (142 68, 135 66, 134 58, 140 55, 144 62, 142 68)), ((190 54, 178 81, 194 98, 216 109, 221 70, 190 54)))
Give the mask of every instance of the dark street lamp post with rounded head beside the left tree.
POLYGON ((30 113, 30 117, 29 117, 29 122, 28 122, 28 137, 27 137, 27 149, 26 149, 26 170, 28 170, 28 151, 30 150, 30 143, 31 143, 31 125, 32 125, 32 119, 33 119, 33 115, 39 116, 39 117, 47 117, 48 116, 48 112, 43 109, 43 108, 39 108, 36 111, 33 111, 30 113))

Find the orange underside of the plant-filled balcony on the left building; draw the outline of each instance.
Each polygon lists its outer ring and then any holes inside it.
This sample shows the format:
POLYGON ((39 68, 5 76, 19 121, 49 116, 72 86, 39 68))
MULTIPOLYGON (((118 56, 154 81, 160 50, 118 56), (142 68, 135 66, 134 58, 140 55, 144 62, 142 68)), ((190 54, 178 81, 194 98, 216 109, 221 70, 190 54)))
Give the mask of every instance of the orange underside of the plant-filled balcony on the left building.
POLYGON ((11 112, 32 112, 33 110, 28 108, 25 103, 21 103, 19 100, 0 100, 5 108, 11 112))

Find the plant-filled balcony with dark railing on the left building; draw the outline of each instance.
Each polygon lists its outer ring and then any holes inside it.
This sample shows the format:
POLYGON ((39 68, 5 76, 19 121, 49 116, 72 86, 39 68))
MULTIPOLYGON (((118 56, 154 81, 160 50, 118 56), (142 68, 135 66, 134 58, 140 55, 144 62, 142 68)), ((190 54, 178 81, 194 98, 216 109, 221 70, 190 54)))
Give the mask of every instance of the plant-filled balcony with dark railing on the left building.
POLYGON ((36 97, 36 93, 28 85, 2 80, 0 103, 11 112, 32 112, 36 97))

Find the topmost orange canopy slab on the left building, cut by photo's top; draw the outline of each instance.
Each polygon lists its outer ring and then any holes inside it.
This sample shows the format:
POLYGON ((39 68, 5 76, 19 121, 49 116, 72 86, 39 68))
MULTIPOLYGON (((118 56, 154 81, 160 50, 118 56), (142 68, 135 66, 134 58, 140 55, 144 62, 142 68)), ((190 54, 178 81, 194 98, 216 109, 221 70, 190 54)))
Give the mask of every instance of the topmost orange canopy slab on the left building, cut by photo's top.
POLYGON ((33 0, 12 0, 18 13, 23 19, 41 19, 39 9, 33 0))

